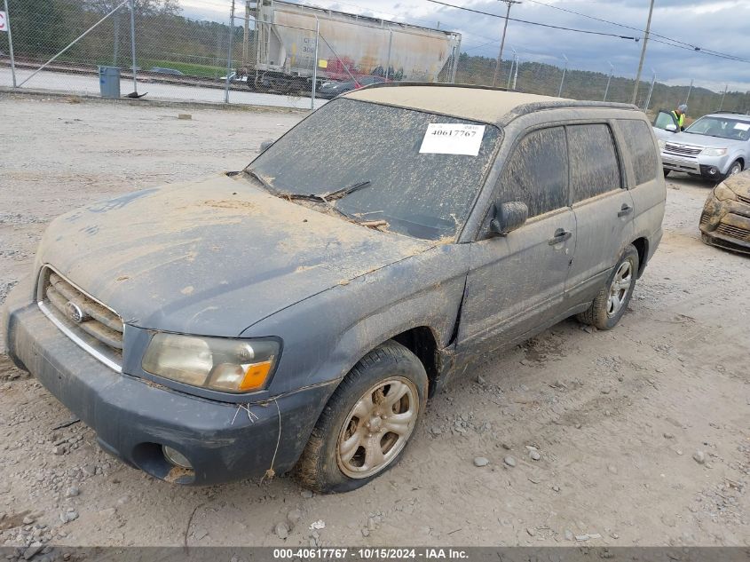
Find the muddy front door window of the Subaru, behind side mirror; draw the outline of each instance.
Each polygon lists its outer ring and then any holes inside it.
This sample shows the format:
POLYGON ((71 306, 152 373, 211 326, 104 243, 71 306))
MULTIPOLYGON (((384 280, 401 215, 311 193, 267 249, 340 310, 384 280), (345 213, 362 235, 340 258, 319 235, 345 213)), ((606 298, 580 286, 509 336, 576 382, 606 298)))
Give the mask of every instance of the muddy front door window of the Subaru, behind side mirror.
POLYGON ((525 202, 529 217, 568 204, 568 159, 563 127, 525 136, 502 170, 497 199, 525 202))

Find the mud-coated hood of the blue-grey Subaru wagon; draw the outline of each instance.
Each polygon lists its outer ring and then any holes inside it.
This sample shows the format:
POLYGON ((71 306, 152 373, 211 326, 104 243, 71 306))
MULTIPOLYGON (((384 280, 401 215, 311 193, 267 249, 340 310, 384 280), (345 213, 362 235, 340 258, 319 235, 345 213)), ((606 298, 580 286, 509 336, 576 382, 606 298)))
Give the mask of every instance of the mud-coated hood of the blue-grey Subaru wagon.
POLYGON ((56 218, 38 262, 131 325, 238 336, 435 244, 358 226, 268 194, 244 175, 222 174, 56 218))

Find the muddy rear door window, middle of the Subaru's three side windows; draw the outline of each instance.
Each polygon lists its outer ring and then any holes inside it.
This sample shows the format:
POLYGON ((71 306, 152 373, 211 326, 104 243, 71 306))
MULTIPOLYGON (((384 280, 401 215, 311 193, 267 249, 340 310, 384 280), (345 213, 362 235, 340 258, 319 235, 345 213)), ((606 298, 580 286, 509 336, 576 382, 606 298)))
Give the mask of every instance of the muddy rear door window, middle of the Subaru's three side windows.
POLYGON ((568 130, 573 202, 620 189, 620 162, 607 125, 572 125, 568 130))

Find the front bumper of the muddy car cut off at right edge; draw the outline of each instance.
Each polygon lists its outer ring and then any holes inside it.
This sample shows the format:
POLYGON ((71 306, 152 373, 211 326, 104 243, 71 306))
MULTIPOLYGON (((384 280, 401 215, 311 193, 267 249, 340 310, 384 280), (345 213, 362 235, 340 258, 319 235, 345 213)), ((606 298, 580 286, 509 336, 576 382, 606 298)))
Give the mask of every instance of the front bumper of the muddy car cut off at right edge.
POLYGON ((750 204, 709 195, 700 215, 700 233, 712 246, 750 253, 750 204))

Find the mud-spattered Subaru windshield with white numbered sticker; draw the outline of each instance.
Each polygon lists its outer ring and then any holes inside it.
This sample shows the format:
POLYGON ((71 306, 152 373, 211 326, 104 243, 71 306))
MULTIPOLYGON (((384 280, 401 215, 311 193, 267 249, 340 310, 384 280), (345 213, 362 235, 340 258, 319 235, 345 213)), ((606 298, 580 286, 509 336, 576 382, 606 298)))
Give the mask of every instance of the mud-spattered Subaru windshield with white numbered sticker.
POLYGON ((499 137, 484 123, 335 99, 247 171, 280 196, 323 195, 362 222, 384 221, 390 232, 438 240, 453 237, 466 220, 499 137))

